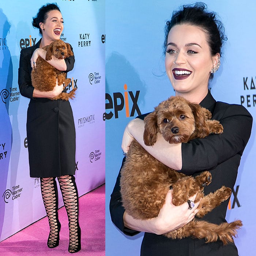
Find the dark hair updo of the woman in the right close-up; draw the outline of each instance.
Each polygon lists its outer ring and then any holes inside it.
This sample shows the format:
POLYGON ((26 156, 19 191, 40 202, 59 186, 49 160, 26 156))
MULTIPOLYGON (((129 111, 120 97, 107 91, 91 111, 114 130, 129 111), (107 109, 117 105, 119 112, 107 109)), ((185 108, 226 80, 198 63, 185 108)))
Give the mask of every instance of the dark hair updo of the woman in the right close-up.
POLYGON ((202 28, 207 34, 207 42, 210 46, 211 55, 221 54, 223 41, 227 40, 225 29, 222 22, 217 19, 217 14, 215 12, 208 12, 207 5, 204 3, 183 5, 180 10, 173 12, 172 19, 167 21, 165 26, 164 53, 166 52, 169 31, 173 26, 181 24, 202 28))

